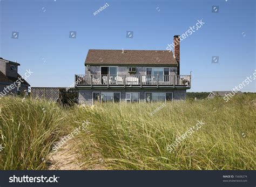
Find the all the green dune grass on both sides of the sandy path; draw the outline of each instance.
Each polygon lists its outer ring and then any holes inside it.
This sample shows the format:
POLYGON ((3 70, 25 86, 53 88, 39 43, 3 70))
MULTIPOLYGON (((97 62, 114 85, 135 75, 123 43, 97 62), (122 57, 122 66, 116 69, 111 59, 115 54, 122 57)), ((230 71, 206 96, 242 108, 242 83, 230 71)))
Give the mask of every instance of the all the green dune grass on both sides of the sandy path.
POLYGON ((107 103, 64 109, 52 102, 0 99, 0 169, 46 169, 53 144, 88 121, 74 138, 83 167, 119 170, 253 170, 256 96, 161 103, 107 103), (167 145, 197 121, 205 124, 167 145))

